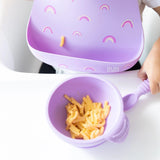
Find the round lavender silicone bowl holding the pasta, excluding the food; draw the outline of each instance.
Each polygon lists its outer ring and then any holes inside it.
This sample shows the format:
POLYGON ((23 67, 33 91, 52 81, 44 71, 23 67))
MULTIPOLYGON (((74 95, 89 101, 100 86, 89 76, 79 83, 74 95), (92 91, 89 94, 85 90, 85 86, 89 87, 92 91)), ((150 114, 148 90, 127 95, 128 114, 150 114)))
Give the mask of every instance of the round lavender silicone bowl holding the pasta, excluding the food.
POLYGON ((105 141, 121 142, 128 133, 128 119, 123 110, 123 101, 119 91, 110 82, 94 76, 76 76, 65 80, 52 93, 48 102, 48 117, 55 134, 77 147, 95 147, 105 141), (68 101, 64 94, 81 102, 82 97, 89 95, 94 102, 108 101, 111 106, 103 135, 92 139, 72 139, 66 131, 67 118, 65 105, 68 101))

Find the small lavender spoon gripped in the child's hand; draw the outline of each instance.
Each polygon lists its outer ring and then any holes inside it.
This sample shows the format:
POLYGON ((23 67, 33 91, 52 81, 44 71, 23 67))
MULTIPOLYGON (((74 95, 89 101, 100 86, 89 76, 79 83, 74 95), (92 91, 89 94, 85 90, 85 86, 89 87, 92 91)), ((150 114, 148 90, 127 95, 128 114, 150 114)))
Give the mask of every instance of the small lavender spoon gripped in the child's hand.
POLYGON ((147 80, 144 80, 138 86, 137 90, 134 93, 128 94, 125 97, 123 97, 124 110, 126 111, 134 107, 139 97, 148 92, 150 92, 150 86, 149 86, 149 81, 147 79, 147 80))

